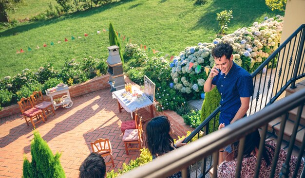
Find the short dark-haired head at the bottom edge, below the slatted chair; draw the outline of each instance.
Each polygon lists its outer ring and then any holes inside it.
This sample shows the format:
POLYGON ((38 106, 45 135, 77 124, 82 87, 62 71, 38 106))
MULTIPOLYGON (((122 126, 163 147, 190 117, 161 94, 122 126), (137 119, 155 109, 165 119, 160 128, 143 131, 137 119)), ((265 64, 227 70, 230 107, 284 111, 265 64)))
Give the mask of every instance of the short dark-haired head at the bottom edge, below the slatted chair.
POLYGON ((105 178, 105 174, 105 161, 96 153, 91 153, 79 167, 79 178, 105 178))

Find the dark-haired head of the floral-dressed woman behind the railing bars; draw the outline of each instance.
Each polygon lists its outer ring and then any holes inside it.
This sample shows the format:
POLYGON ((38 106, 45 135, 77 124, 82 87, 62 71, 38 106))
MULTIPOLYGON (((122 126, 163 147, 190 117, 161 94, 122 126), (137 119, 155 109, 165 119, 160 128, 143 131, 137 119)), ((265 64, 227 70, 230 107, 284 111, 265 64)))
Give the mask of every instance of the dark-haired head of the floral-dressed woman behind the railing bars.
MULTIPOLYGON (((254 132, 248 134, 245 139, 245 147, 244 147, 244 158, 253 157, 256 155, 256 149, 258 150, 261 141, 261 136, 256 129, 254 132)), ((233 159, 236 159, 238 156, 238 148, 239 148, 239 141, 232 143, 232 150, 233 150, 233 159)), ((267 166, 271 163, 271 155, 265 148, 263 151, 263 158, 267 163, 267 166)))

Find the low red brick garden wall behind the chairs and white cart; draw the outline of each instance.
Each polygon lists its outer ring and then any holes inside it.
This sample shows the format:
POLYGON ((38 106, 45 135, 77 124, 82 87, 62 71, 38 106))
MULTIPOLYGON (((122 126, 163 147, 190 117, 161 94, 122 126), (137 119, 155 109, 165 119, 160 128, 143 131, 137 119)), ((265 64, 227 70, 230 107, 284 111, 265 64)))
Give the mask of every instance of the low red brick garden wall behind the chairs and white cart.
MULTIPOLYGON (((71 96, 71 98, 74 98, 74 97, 84 95, 84 94, 87 94, 87 93, 90 93, 93 91, 108 88, 108 87, 110 87, 110 85, 108 84, 108 81, 109 81, 109 75, 106 74, 106 75, 103 75, 100 77, 90 79, 84 83, 70 86, 69 87, 70 96, 71 96)), ((48 100, 50 101, 50 98, 45 95, 44 95, 44 98, 46 101, 48 101, 48 100)), ((18 104, 11 105, 9 107, 4 107, 0 111, 0 118, 11 116, 14 114, 21 114, 18 104)))

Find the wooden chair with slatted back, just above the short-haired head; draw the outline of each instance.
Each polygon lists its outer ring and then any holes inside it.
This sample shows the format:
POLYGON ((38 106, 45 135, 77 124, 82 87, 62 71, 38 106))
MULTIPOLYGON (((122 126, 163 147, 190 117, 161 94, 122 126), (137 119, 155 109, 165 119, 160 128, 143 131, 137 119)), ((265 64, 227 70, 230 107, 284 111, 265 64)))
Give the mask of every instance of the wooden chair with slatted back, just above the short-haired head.
POLYGON ((111 161, 106 164, 112 164, 114 167, 114 157, 112 155, 112 148, 109 139, 97 139, 95 142, 91 142, 92 151, 101 155, 102 157, 110 155, 111 161))

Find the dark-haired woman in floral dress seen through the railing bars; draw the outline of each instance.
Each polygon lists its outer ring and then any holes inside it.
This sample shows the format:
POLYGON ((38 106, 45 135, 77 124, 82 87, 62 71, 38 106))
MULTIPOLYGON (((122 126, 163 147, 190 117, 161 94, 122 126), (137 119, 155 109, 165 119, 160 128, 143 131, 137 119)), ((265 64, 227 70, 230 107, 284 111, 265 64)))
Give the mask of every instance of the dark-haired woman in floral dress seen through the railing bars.
MULTIPOLYGON (((245 139, 245 147, 243 152, 243 161, 242 161, 242 170, 241 170, 241 178, 253 178, 255 174, 255 166, 256 159, 258 156, 258 148, 261 137, 258 130, 255 130, 253 133, 250 133, 246 136, 245 139)), ((236 174, 236 166, 237 166, 237 155, 238 155, 238 147, 239 141, 231 144, 232 153, 229 154, 226 158, 226 161, 222 162, 218 168, 218 178, 235 178, 236 174)), ((271 163, 272 158, 274 157, 274 150, 276 148, 276 143, 272 140, 268 140, 265 142, 265 149, 263 150, 263 157, 261 162, 261 168, 259 173, 259 178, 269 178, 271 172, 271 163)), ((278 162, 275 170, 275 178, 279 178, 281 168, 283 163, 286 161, 287 152, 281 148, 280 154, 278 157, 278 162)), ((293 172, 295 170, 295 165, 297 162, 297 158, 295 156, 291 156, 289 162, 289 178, 292 177, 293 172)), ((302 170, 304 168, 304 159, 301 161, 301 165, 297 174, 299 178, 301 176, 302 170)))

